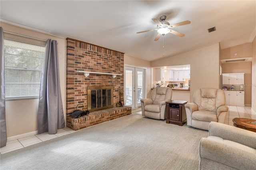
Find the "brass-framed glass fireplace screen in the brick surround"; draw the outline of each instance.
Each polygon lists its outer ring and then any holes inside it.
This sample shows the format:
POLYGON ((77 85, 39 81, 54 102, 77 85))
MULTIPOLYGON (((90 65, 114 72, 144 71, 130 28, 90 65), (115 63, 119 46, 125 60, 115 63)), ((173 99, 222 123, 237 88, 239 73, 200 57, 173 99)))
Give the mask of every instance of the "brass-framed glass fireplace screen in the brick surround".
POLYGON ((88 87, 88 110, 94 112, 112 108, 113 89, 112 86, 88 87))

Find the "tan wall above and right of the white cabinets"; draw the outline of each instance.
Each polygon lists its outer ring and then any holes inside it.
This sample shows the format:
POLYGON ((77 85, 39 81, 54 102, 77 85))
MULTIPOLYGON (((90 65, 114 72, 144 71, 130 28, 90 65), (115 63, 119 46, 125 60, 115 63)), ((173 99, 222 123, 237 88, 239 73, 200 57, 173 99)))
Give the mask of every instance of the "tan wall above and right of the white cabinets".
POLYGON ((244 104, 251 105, 252 62, 222 64, 222 73, 244 73, 244 104))

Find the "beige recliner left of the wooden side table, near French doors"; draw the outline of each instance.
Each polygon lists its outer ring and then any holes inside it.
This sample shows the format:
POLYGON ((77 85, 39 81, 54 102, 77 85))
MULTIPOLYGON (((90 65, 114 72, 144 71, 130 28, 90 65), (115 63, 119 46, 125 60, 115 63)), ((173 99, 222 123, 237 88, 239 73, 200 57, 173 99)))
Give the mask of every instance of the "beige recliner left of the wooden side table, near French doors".
POLYGON ((141 99, 142 116, 153 119, 166 119, 166 101, 172 100, 172 89, 157 87, 151 92, 150 99, 141 99))

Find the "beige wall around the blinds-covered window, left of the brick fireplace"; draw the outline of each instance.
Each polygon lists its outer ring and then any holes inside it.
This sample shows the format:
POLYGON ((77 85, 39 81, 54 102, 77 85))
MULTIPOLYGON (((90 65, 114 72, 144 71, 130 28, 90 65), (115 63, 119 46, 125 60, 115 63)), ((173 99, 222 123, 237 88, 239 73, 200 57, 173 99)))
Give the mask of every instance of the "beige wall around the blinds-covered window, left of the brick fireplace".
MULTIPOLYGON (((1 22, 1 27, 4 31, 8 32, 14 32, 43 40, 49 38, 57 40, 60 67, 60 90, 62 94, 64 119, 66 121, 66 39, 13 26, 4 22, 1 22)), ((37 134, 37 113, 38 99, 6 101, 6 129, 8 140, 18 137, 20 138, 22 135, 28 136, 28 134, 37 134), (10 136, 12 136, 12 138, 10 138, 10 136)))

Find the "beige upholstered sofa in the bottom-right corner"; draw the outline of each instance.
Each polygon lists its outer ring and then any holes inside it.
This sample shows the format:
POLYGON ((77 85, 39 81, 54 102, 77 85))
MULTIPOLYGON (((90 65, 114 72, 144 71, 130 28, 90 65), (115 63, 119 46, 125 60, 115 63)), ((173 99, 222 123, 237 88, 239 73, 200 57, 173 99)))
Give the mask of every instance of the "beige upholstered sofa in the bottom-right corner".
POLYGON ((256 170, 256 133, 211 122, 199 144, 200 170, 256 170))

